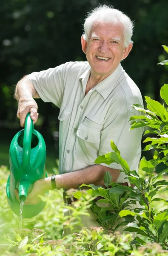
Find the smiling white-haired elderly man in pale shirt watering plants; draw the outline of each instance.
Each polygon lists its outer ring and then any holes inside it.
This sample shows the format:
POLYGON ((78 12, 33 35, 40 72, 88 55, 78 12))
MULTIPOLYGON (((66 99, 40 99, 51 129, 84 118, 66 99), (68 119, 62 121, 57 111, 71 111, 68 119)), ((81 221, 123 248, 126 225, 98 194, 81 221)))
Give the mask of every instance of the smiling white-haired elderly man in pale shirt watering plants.
MULTIPOLYGON (((120 165, 94 164, 98 155, 111 151, 110 140, 130 169, 138 168, 142 129, 130 131, 128 121, 130 116, 139 114, 130 106, 143 105, 142 96, 120 64, 132 49, 133 23, 119 10, 100 6, 86 17, 84 29, 81 44, 87 61, 67 62, 34 72, 16 87, 21 126, 28 112, 34 123, 37 121, 37 103, 33 98, 60 108, 59 175, 37 180, 28 195, 28 204, 37 204, 37 195, 52 188, 66 190, 83 183, 104 186, 106 171, 113 181, 125 182, 120 165)), ((97 224, 87 221, 87 225, 97 224)))

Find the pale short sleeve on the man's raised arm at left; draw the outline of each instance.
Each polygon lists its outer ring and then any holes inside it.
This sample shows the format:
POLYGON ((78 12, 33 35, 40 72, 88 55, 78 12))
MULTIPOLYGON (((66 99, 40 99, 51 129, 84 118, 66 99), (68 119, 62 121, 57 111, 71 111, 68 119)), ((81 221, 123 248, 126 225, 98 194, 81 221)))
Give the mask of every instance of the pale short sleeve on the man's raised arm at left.
POLYGON ((67 64, 31 73, 29 79, 44 102, 52 102, 61 107, 64 91, 64 78, 67 64))

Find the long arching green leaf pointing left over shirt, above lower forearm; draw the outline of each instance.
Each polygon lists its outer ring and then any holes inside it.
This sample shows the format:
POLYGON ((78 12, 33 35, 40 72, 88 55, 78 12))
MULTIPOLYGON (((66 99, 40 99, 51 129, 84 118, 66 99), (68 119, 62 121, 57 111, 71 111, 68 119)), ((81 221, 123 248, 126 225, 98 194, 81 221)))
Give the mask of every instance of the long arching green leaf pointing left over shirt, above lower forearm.
POLYGON ((125 172, 126 175, 129 175, 130 169, 128 166, 128 163, 120 156, 119 153, 116 152, 110 152, 108 154, 104 154, 103 156, 98 156, 97 159, 94 161, 94 163, 100 164, 100 163, 118 163, 123 168, 123 172, 125 172))

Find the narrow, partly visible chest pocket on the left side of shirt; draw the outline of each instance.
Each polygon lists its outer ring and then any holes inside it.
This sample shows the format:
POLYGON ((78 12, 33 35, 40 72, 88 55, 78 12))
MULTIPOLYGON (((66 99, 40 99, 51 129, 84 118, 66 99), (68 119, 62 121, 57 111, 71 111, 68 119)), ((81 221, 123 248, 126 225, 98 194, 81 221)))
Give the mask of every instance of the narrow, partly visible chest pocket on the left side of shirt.
POLYGON ((59 129, 59 146, 63 143, 63 133, 65 126, 68 124, 68 119, 70 116, 70 111, 64 107, 63 105, 60 108, 60 114, 58 116, 58 119, 60 120, 60 129, 59 129))

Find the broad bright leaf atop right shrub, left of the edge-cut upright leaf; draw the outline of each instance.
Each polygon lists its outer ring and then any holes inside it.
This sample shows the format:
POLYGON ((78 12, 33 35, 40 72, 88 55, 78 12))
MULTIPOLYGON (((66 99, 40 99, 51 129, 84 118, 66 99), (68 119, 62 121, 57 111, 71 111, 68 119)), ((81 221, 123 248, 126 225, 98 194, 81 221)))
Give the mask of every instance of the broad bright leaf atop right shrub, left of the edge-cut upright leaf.
POLYGON ((147 102, 147 107, 149 110, 153 111, 157 116, 160 116, 160 118, 165 121, 165 115, 166 109, 163 107, 163 105, 159 102, 157 102, 154 99, 148 99, 149 97, 145 97, 147 102))

